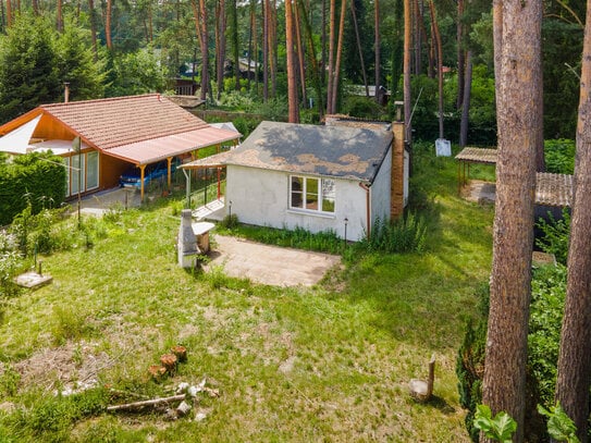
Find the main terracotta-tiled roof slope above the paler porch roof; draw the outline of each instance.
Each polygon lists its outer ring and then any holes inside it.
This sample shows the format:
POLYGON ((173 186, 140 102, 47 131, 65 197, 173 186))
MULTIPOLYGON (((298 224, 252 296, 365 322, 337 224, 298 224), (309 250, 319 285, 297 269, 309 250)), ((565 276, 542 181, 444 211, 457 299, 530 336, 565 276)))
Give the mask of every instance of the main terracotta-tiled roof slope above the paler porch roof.
POLYGON ((99 149, 208 127, 201 119, 159 94, 44 104, 99 149))

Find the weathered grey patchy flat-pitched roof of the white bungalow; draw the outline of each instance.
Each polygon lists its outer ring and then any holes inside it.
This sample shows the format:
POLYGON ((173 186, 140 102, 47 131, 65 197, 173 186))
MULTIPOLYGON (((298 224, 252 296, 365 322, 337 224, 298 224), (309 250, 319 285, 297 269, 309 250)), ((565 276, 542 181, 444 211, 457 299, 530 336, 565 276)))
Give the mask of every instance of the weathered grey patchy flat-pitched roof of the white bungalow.
POLYGON ((392 137, 385 128, 262 122, 226 164, 371 183, 392 137))

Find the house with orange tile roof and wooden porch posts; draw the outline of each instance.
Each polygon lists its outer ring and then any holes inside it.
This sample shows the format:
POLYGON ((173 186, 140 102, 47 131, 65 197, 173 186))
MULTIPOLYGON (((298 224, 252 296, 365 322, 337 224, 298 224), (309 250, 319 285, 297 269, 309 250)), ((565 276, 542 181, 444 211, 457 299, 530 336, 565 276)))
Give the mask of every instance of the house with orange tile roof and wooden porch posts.
POLYGON ((63 157, 66 196, 115 187, 133 164, 140 171, 143 198, 148 164, 167 160, 170 185, 175 157, 236 144, 239 136, 209 125, 160 94, 149 94, 39 106, 0 126, 0 151, 51 150, 63 157))

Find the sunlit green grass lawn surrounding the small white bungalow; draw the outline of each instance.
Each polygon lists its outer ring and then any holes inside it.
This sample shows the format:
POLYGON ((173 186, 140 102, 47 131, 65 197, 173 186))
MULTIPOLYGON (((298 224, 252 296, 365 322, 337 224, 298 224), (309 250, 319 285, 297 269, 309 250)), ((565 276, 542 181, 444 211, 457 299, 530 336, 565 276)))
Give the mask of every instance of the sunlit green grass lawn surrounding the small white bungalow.
POLYGON ((91 248, 44 257, 53 283, 4 302, 0 441, 468 442, 455 360, 488 281, 493 208, 458 198, 452 159, 416 164, 427 250, 365 256, 311 288, 178 268, 174 200, 88 221, 91 248), (152 381, 175 344, 188 361, 152 381), (434 398, 418 404, 407 383, 432 354, 434 398), (204 378, 219 396, 198 394, 178 420, 103 410, 204 378), (97 387, 54 397, 76 380, 97 387))

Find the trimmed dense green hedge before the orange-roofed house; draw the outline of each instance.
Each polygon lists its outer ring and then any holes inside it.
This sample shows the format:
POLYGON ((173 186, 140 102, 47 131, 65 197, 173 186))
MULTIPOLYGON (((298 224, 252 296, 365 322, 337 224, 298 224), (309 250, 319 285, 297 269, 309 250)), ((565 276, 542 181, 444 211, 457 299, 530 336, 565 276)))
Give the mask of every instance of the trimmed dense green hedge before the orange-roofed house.
POLYGON ((0 225, 30 201, 33 213, 59 207, 65 199, 66 170, 63 159, 52 153, 27 153, 0 159, 0 225))

